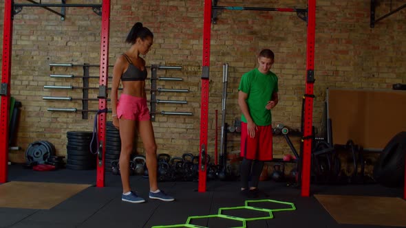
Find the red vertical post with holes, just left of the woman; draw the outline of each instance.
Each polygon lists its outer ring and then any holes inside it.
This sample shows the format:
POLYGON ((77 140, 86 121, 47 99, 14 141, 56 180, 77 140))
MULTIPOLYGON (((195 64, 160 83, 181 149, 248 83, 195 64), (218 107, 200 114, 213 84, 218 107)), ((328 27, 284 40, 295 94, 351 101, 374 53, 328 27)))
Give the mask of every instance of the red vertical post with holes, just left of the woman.
MULTIPOLYGON (((98 110, 107 109, 107 82, 109 76, 109 32, 110 32, 110 0, 103 0, 102 23, 100 34, 100 80, 98 94, 98 110)), ((97 163, 96 187, 105 186, 105 150, 106 150, 106 117, 103 112, 98 115, 99 154, 97 163), (100 154, 101 153, 101 154, 100 154)))

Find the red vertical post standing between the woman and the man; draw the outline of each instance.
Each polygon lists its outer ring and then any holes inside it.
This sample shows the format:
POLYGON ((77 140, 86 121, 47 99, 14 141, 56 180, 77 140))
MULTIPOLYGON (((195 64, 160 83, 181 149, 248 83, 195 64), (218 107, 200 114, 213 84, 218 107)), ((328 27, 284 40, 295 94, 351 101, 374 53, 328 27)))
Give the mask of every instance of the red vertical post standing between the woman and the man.
POLYGON ((202 95, 200 105, 199 192, 206 192, 207 125, 209 117, 209 71, 211 41, 211 0, 204 0, 202 95))

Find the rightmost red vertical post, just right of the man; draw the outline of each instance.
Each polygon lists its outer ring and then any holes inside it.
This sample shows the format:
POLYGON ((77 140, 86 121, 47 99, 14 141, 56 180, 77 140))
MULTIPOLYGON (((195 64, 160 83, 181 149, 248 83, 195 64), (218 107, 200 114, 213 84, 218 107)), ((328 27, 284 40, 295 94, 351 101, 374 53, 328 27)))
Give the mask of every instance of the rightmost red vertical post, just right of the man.
POLYGON ((306 56, 306 92, 303 123, 303 155, 301 196, 310 196, 310 164, 312 153, 313 87, 314 87, 314 34, 316 32, 316 0, 308 1, 308 31, 306 56))

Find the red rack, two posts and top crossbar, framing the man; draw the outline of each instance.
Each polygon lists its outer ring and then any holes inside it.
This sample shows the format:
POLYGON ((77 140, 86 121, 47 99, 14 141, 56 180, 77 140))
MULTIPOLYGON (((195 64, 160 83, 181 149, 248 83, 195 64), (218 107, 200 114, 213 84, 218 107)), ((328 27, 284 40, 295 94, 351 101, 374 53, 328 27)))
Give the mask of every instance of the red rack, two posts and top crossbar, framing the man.
MULTIPOLYGON (((206 162, 207 157, 207 125, 209 115, 209 68, 210 42, 213 10, 257 10, 306 13, 307 16, 307 48, 306 48, 306 89, 303 95, 305 111, 303 117, 303 152, 301 155, 301 196, 310 196, 310 156, 312 152, 312 118, 313 118, 313 87, 314 87, 314 34, 316 30, 316 0, 308 0, 308 9, 295 8, 255 8, 212 5, 212 0, 204 0, 203 21, 203 60, 202 60, 202 97, 200 107, 200 158, 199 158, 199 192, 206 192, 206 162)), ((302 113, 303 115, 303 113, 302 113)))

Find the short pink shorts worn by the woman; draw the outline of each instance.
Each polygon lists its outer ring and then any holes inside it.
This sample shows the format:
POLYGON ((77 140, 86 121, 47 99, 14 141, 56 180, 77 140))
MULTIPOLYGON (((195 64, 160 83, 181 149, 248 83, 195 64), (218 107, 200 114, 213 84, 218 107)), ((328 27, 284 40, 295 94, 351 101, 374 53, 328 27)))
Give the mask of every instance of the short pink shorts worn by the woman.
POLYGON ((147 106, 147 99, 134 97, 122 93, 117 104, 117 117, 133 121, 146 121, 151 119, 147 106))

